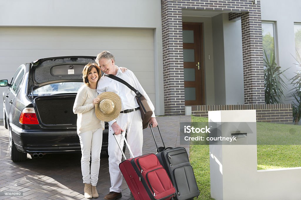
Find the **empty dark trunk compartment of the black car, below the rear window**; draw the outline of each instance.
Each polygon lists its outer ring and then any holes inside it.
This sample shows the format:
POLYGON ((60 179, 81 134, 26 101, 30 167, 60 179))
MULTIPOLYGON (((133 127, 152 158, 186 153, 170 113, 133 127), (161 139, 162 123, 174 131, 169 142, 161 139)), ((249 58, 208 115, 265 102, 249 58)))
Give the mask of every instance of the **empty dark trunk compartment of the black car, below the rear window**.
POLYGON ((73 113, 76 94, 47 95, 34 98, 33 104, 40 126, 76 128, 77 115, 73 113))

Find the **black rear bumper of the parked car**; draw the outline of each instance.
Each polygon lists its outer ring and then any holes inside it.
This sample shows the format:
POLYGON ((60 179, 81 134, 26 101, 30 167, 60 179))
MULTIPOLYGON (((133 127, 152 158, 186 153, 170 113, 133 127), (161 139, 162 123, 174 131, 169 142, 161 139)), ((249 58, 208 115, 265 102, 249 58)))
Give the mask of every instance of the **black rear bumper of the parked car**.
MULTIPOLYGON (((11 125, 11 134, 17 149, 25 153, 74 153, 81 147, 76 129, 27 130, 11 125)), ((103 132, 102 151, 107 150, 107 130, 103 132)))

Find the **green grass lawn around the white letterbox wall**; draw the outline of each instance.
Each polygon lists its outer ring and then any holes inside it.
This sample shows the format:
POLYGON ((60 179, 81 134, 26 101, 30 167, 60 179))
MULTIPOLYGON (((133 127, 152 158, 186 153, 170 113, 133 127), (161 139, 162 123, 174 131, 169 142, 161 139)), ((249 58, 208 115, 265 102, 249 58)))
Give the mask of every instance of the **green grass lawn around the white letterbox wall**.
MULTIPOLYGON (((191 121, 208 122, 208 118, 192 116, 191 121)), ((259 122, 256 129, 258 170, 301 167, 301 126, 259 122)), ((213 199, 210 197, 209 145, 190 145, 190 162, 200 189, 199 199, 213 199)))

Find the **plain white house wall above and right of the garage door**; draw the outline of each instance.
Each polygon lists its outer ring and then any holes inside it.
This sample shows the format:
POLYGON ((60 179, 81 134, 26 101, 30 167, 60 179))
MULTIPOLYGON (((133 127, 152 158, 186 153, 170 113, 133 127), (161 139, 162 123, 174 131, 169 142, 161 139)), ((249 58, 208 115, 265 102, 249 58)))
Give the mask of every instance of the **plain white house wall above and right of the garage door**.
MULTIPOLYGON (((152 84, 156 90, 156 115, 164 114, 160 0, 14 0, 2 1, 0 6, 0 27, 154 29, 155 83, 152 84)), ((10 69, 3 66, 0 71, 12 76, 20 64, 10 69)))

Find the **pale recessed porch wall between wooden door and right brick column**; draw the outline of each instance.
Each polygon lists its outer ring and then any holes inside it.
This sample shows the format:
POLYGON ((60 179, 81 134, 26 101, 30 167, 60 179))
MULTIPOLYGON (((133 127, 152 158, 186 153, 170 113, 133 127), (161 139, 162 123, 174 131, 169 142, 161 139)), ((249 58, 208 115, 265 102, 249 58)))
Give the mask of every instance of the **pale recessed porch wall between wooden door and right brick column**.
POLYGON ((241 21, 228 14, 212 18, 215 104, 244 104, 241 21))

